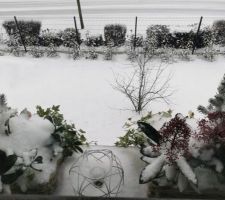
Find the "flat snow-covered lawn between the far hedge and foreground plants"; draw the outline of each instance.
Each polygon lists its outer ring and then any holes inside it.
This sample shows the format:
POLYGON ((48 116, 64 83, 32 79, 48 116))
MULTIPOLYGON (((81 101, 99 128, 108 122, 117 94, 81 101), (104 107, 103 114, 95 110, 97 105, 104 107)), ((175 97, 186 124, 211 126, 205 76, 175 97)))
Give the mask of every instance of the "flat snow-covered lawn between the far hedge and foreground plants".
MULTIPOLYGON (((187 114, 196 112, 199 104, 216 93, 225 72, 224 57, 215 62, 195 58, 192 62, 177 62, 168 66, 173 74, 171 87, 176 90, 168 106, 162 102, 151 104, 154 112, 168 110, 187 114)), ((127 99, 113 90, 114 73, 129 73, 132 66, 124 56, 114 61, 78 60, 68 58, 34 59, 0 57, 1 93, 8 97, 8 105, 21 111, 27 107, 61 105, 65 118, 77 128, 87 131, 89 141, 112 145, 124 134, 123 124, 135 115, 127 99)))

